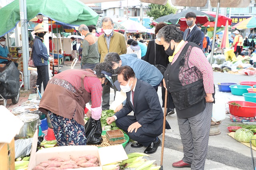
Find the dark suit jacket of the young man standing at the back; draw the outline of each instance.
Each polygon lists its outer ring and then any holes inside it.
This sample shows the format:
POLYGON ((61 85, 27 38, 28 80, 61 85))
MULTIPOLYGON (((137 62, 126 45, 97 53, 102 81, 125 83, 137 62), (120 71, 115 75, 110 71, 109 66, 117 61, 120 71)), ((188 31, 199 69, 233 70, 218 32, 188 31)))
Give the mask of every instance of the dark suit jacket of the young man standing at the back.
POLYGON ((200 41, 201 41, 201 37, 202 37, 202 32, 201 30, 197 27, 194 26, 194 28, 192 29, 192 31, 190 31, 189 35, 186 37, 187 33, 188 33, 188 29, 187 28, 184 31, 184 36, 183 36, 183 40, 184 41, 188 41, 188 42, 193 42, 196 43, 196 45, 199 45, 200 41), (185 39, 186 38, 186 39, 185 39))

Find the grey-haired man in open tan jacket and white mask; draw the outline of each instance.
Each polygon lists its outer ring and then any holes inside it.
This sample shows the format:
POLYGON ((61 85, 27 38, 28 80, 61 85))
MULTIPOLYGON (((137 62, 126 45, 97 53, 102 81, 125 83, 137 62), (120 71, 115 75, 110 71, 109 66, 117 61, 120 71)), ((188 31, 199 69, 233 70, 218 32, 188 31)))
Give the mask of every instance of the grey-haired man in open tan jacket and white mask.
MULTIPOLYGON (((98 50, 100 53, 100 62, 103 62, 105 56, 109 52, 116 52, 119 55, 125 54, 126 42, 124 36, 114 31, 114 23, 111 18, 105 17, 102 19, 102 28, 104 34, 98 38, 98 50)), ((117 76, 112 76, 113 82, 117 80, 117 76)), ((116 89, 114 89, 116 92, 116 89)), ((102 109, 106 110, 110 107, 110 87, 108 85, 103 87, 102 91, 102 109)))

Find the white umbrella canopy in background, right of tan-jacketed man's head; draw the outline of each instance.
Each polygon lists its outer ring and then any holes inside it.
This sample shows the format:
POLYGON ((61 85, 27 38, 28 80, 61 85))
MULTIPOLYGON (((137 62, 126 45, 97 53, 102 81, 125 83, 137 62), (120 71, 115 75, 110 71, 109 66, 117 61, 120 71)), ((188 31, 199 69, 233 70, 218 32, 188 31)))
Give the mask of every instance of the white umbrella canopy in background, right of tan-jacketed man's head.
POLYGON ((147 32, 147 28, 142 26, 140 23, 133 20, 125 20, 119 22, 122 26, 124 26, 128 32, 147 32))

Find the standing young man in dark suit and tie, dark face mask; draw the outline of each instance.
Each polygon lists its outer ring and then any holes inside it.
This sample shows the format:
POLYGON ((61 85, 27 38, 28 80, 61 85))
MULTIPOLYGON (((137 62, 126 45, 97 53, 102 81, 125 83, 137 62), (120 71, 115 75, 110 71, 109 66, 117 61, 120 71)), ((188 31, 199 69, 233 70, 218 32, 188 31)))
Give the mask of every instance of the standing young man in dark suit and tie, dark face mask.
POLYGON ((188 42, 200 44, 202 32, 196 26, 196 14, 194 12, 188 12, 185 16, 188 28, 184 31, 183 40, 188 42))

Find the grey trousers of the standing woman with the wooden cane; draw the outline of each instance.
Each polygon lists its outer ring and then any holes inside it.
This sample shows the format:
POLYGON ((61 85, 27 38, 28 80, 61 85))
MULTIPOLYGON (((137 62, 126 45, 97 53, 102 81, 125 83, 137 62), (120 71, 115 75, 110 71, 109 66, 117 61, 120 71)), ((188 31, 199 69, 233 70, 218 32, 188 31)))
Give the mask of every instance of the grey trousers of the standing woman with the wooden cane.
POLYGON ((178 125, 183 144, 182 160, 191 164, 191 170, 204 170, 212 119, 213 103, 206 103, 204 111, 190 118, 179 118, 178 125))

